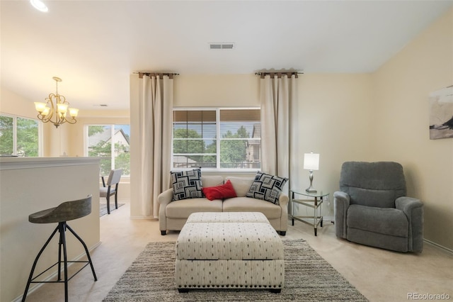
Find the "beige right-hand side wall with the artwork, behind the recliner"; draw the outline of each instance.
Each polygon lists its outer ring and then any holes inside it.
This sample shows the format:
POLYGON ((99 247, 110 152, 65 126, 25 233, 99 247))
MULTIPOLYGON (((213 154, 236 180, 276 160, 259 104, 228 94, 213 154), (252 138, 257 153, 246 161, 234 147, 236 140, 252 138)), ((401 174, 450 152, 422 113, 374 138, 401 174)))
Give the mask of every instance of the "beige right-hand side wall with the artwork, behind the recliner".
POLYGON ((425 239, 453 250, 453 139, 430 140, 428 95, 453 84, 453 10, 375 74, 375 160, 401 162, 425 203, 425 239))

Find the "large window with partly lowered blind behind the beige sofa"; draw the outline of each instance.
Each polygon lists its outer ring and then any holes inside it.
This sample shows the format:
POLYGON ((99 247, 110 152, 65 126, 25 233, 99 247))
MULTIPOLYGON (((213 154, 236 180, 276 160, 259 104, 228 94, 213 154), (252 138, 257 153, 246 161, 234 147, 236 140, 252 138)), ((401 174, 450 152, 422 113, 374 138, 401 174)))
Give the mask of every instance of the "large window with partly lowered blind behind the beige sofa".
POLYGON ((260 169, 260 141, 258 108, 173 110, 173 168, 260 169))

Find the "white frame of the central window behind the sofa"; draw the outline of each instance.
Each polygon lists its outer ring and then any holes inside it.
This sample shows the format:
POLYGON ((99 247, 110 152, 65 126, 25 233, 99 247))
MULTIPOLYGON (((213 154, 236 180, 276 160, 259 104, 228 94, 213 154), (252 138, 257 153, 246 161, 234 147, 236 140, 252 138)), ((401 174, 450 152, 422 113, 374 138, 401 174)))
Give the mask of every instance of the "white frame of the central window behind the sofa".
MULTIPOLYGON (((193 168, 182 168, 182 167, 173 167, 174 162, 173 162, 173 112, 174 111, 216 111, 216 138, 219 138, 216 140, 216 167, 215 168, 209 168, 209 167, 202 167, 203 172, 207 172, 208 174, 210 172, 216 173, 216 174, 222 174, 222 173, 234 173, 234 174, 251 174, 251 173, 256 173, 260 171, 261 168, 222 168, 220 167, 220 143, 222 142, 221 134, 220 134, 220 111, 222 110, 259 110, 261 111, 260 106, 246 106, 246 107, 239 107, 239 106, 234 106, 234 107, 228 107, 228 106, 215 106, 215 107, 173 107, 172 109, 172 129, 171 129, 171 170, 172 171, 187 171, 191 170, 193 168)), ((261 119, 260 119, 261 123, 261 119)), ((260 134, 259 141, 261 142, 261 137, 262 135, 260 134)), ((240 138, 237 139, 231 139, 231 140, 241 140, 240 138)), ((210 155, 210 153, 207 153, 205 155, 210 155)), ((260 167, 262 166, 262 162, 260 161, 260 167)))

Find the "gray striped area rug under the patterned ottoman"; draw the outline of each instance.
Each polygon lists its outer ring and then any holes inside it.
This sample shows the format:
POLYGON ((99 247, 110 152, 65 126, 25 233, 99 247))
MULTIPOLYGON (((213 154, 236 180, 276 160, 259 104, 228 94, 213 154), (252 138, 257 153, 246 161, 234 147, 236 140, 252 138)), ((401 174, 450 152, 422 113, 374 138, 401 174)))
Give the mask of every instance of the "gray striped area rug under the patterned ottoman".
POLYGON ((304 240, 284 240, 285 286, 263 289, 195 289, 179 293, 175 242, 151 242, 104 298, 118 301, 367 301, 304 240))

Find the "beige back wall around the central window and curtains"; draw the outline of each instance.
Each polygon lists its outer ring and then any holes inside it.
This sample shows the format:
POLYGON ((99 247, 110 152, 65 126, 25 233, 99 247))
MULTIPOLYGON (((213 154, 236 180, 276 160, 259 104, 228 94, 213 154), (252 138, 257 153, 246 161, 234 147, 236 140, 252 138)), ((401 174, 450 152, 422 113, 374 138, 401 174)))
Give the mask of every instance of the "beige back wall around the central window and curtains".
MULTIPOLYGON (((299 101, 293 108, 297 117, 297 154, 319 152, 319 171, 314 186, 331 192, 330 205, 323 208, 333 216, 333 191, 338 189, 341 163, 345 160, 369 160, 372 77, 369 74, 303 74, 299 77, 299 101)), ((137 110, 138 75, 131 75, 131 114, 137 110), (135 108, 135 109, 134 109, 135 108)), ((174 81, 174 106, 259 106, 260 78, 254 74, 180 75, 174 81)), ((132 118, 132 125, 136 118, 132 118)), ((137 135, 131 126, 131 137, 137 135)), ((134 151, 131 148, 131 157, 134 151)), ((303 156, 303 155, 302 155, 303 156)), ((309 172, 302 169, 300 156, 292 159, 299 171, 292 179, 297 188, 309 186, 309 172)), ((131 163, 139 169, 140 163, 131 163)), ((131 167, 132 169, 132 167, 131 167)), ((132 172, 133 175, 133 172, 132 172)), ((133 176, 132 176, 133 177, 133 176)), ((134 204, 132 184, 131 216, 140 214, 134 204)), ((138 193, 137 193, 138 194, 138 193)))

